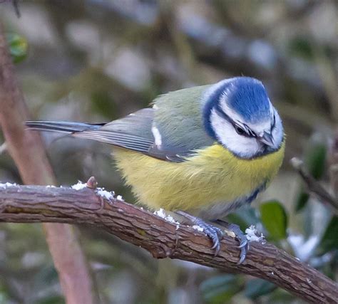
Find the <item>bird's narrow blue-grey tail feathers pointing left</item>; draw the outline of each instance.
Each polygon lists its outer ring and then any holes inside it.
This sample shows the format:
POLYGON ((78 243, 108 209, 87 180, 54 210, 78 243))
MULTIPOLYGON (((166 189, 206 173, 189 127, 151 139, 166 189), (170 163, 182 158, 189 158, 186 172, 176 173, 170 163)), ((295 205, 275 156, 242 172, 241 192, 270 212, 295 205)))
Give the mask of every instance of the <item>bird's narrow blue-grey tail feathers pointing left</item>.
POLYGON ((66 122, 66 121, 48 121, 48 120, 31 120, 25 122, 26 127, 30 130, 51 131, 62 133, 77 133, 86 130, 97 130, 103 124, 91 124, 83 122, 66 122))

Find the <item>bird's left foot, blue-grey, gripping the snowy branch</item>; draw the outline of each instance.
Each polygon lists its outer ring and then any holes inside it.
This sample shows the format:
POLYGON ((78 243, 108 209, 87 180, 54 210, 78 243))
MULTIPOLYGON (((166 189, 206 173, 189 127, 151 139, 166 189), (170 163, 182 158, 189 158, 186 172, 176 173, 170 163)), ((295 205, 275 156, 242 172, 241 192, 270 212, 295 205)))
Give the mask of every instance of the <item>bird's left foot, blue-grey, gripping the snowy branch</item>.
POLYGON ((192 216, 191 214, 187 214, 184 211, 177 211, 176 213, 181 216, 184 216, 185 219, 188 219, 191 222, 191 224, 197 225, 203 229, 203 232, 212 241, 211 248, 215 249, 214 256, 217 256, 217 254, 220 252, 220 241, 223 239, 224 235, 222 229, 203 221, 203 219, 200 219, 196 216, 192 216))

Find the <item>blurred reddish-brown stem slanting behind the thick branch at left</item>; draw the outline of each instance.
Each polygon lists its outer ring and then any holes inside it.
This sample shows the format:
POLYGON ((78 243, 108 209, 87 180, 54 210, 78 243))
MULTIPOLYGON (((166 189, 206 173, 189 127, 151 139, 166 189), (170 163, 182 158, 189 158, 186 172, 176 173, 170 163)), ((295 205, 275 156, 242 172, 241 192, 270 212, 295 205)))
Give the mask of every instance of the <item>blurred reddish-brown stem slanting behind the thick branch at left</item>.
MULTIPOLYGON (((24 131, 28 118, 0 23, 0 124, 6 147, 25 184, 54 184, 40 135, 24 131)), ((43 228, 67 303, 95 303, 88 265, 74 228, 64 224, 44 224, 43 228)))

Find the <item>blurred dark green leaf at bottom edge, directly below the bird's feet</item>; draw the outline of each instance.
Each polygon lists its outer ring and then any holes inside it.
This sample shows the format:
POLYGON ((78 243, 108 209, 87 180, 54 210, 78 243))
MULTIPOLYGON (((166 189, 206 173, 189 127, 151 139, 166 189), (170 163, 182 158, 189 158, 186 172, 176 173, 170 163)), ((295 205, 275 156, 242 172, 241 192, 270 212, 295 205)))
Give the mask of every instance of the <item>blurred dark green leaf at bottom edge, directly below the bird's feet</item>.
POLYGON ((211 304, 225 303, 241 289, 238 276, 222 275, 214 276, 200 285, 205 302, 211 304))

